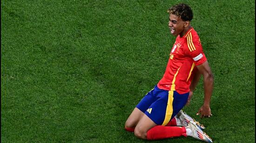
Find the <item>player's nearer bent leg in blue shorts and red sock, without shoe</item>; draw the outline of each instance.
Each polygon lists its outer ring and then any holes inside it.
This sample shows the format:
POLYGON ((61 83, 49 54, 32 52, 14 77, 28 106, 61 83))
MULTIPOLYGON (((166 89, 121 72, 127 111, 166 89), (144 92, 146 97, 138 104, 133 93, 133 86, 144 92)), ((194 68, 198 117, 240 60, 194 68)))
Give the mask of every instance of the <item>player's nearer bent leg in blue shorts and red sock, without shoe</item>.
POLYGON ((141 118, 135 127, 135 136, 141 139, 156 140, 170 137, 186 137, 185 127, 164 126, 181 110, 186 103, 186 97, 174 95, 174 91, 159 94, 149 111, 141 118), (184 101, 183 101, 184 100, 184 101))

